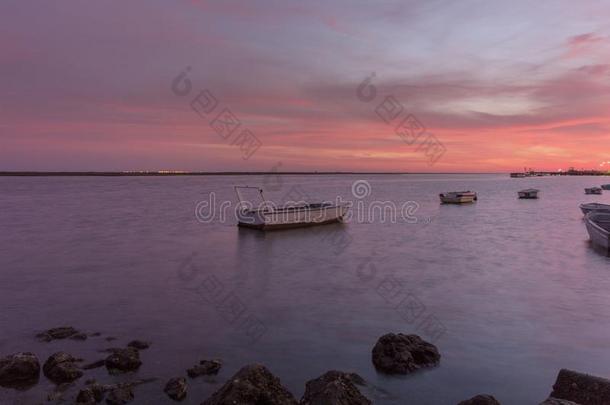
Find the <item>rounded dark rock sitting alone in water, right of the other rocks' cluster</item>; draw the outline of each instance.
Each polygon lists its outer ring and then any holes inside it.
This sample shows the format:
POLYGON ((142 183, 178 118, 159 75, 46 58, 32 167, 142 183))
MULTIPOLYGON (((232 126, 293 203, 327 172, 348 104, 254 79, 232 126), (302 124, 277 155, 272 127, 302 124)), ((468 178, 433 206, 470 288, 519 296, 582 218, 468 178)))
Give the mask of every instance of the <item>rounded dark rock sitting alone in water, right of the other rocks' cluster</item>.
POLYGON ((373 364, 388 374, 409 374, 439 364, 441 355, 432 343, 417 335, 388 333, 373 347, 373 364))

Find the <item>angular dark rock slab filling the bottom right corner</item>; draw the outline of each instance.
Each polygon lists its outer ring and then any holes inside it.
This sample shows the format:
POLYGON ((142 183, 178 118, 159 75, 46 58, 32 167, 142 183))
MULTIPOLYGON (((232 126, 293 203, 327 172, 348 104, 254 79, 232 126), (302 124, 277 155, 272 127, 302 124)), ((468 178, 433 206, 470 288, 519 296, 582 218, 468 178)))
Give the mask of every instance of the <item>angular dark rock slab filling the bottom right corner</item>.
POLYGON ((610 380, 561 369, 551 397, 583 405, 607 405, 610 404, 610 380))

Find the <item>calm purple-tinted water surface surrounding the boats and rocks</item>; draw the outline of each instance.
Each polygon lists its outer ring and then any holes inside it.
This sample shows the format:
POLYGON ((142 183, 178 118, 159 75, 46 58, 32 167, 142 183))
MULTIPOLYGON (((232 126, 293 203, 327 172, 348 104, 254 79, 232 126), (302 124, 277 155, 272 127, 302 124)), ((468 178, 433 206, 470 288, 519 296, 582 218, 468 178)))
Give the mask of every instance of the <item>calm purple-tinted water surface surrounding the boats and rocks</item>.
MULTIPOLYGON (((206 358, 224 367, 190 380, 184 403, 200 403, 252 362, 297 398, 329 369, 355 371, 378 404, 455 404, 477 393, 536 404, 562 367, 610 376, 610 259, 589 244, 578 209, 610 203, 607 193, 583 193, 607 179, 283 176, 267 197, 281 202, 299 186, 320 199, 355 201, 359 179, 371 185, 363 204, 415 201, 417 223, 263 234, 231 218, 197 221, 195 206, 209 193, 235 204, 232 185, 269 185, 257 176, 0 178, 0 354, 32 351, 44 361, 66 350, 93 361, 100 349, 151 340, 137 377, 160 381, 136 389, 142 404, 172 403, 165 380, 206 358), (541 198, 518 200, 528 187, 541 198), (439 192, 456 189, 476 190, 479 202, 438 203, 439 192), (388 280, 411 294, 417 311, 396 308, 380 288, 388 280), (232 310, 214 301, 218 288, 204 289, 212 281, 231 293, 232 310), (243 330, 245 319, 262 329, 243 330), (436 341, 441 365, 407 377, 378 374, 370 352, 382 334, 438 337, 422 319, 445 330, 436 341), (103 336, 34 339, 58 325, 103 336), (264 333, 253 341, 252 330, 264 333)), ((86 376, 125 378, 104 369, 86 376)), ((42 378, 25 392, 0 389, 0 402, 41 403, 52 387, 42 378)))

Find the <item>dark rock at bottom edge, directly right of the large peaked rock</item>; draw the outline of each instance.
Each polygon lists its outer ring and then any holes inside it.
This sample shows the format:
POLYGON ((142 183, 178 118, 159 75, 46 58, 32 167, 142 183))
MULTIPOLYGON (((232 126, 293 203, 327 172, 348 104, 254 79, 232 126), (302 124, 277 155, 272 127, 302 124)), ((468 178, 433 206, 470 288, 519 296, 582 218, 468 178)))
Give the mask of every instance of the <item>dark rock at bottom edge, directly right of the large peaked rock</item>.
POLYGON ((364 381, 357 374, 328 371, 307 382, 301 405, 370 405, 371 401, 360 393, 354 380, 364 381))

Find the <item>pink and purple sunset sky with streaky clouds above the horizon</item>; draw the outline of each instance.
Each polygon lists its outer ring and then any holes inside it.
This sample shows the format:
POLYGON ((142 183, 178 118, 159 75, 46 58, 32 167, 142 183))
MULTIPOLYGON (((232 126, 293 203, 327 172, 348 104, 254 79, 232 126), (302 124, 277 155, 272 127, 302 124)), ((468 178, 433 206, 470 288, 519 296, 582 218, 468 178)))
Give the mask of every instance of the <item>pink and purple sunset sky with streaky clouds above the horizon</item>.
POLYGON ((607 0, 3 0, 0 80, 0 170, 610 161, 607 0), (177 95, 187 67, 192 89, 177 95), (202 117, 191 102, 204 89, 218 105, 202 117), (387 96, 403 106, 391 123, 375 112, 387 96), (241 123, 226 139, 210 125, 225 108, 241 123), (409 114, 444 146, 434 163, 395 133, 409 114), (260 141, 248 159, 243 130, 260 141))

